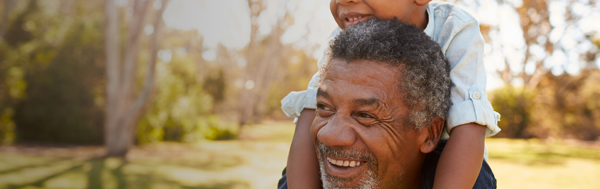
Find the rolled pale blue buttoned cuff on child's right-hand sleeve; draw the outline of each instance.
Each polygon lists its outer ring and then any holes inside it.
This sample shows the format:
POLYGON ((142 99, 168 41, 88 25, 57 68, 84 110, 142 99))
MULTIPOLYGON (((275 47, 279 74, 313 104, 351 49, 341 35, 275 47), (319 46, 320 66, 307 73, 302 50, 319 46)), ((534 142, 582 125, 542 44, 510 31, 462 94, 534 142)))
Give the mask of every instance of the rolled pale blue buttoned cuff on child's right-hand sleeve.
POLYGON ((469 89, 469 98, 450 107, 448 120, 446 120, 446 131, 450 133, 450 130, 461 124, 477 123, 487 127, 486 137, 500 132, 501 129, 498 127, 500 114, 494 111, 491 103, 487 100, 487 93, 481 87, 472 86, 469 89))

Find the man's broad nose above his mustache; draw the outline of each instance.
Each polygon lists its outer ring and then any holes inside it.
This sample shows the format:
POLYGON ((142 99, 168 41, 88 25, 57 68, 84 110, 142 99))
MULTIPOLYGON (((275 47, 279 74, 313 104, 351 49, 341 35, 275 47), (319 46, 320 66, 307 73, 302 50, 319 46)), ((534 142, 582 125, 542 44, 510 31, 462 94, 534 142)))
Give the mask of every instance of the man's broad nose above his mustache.
POLYGON ((350 146, 356 141, 356 133, 348 121, 334 117, 319 129, 317 139, 329 147, 350 146))

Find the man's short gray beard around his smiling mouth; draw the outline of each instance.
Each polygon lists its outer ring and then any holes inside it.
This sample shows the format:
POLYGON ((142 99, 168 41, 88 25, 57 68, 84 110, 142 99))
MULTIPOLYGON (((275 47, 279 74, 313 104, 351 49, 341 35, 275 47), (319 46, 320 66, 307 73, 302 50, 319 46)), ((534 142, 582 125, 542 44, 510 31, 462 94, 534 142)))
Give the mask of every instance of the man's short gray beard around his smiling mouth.
MULTIPOLYGON (((321 173, 321 181, 323 182, 323 188, 325 189, 350 189, 349 187, 343 187, 343 185, 348 185, 350 184, 354 179, 356 179, 356 176, 353 176, 351 178, 340 178, 338 176, 333 176, 333 175, 329 175, 329 173, 327 172, 327 169, 325 168, 325 163, 329 163, 329 161, 325 161, 325 157, 323 157, 323 146, 326 147, 325 144, 321 143, 319 141, 319 143, 317 143, 317 145, 319 145, 319 169, 320 169, 320 173, 321 173)), ((339 151, 335 152, 336 154, 340 153, 339 151)), ((368 163, 373 163, 373 161, 368 162, 368 163)), ((377 175, 375 174, 374 171, 374 167, 372 164, 365 164, 365 166, 368 166, 368 169, 362 173, 362 175, 364 175, 364 177, 358 182, 358 186, 355 188, 358 189, 374 189, 377 188, 377 186, 379 184, 381 184, 381 181, 379 181, 379 179, 377 179, 377 175)))

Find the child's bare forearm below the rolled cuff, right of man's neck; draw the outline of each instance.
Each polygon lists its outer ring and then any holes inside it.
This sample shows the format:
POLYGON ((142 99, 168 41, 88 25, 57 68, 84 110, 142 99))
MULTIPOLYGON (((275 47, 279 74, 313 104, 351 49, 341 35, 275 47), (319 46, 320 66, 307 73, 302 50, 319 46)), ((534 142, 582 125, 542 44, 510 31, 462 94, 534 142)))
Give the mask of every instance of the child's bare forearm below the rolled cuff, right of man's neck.
POLYGON ((433 188, 473 188, 484 159, 485 129, 476 123, 454 127, 437 162, 433 188))

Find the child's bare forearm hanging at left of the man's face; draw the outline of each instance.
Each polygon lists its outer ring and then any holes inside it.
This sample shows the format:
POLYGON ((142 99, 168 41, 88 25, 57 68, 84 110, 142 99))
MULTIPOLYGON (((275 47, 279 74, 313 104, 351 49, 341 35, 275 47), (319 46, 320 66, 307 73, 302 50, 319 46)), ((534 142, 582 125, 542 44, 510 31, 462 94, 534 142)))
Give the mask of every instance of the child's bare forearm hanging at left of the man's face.
POLYGON ((314 112, 314 109, 303 109, 296 122, 292 146, 287 156, 287 188, 321 188, 317 153, 310 136, 314 112))

